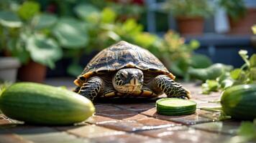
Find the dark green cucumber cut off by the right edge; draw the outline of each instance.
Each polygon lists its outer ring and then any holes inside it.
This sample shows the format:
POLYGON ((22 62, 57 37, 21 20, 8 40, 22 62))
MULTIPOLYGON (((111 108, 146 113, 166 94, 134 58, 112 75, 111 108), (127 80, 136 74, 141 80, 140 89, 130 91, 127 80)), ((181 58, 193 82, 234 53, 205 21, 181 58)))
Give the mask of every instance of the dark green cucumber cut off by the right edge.
POLYGON ((256 84, 242 84, 227 88, 221 95, 221 106, 233 119, 256 118, 256 84))

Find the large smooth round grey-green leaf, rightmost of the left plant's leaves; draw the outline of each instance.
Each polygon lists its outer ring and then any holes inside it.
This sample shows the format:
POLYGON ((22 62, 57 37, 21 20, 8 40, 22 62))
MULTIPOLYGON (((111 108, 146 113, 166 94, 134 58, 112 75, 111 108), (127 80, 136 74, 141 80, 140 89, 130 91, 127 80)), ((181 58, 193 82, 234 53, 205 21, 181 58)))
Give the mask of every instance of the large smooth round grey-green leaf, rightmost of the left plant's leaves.
POLYGON ((68 49, 81 49, 88 44, 86 26, 81 21, 63 18, 53 29, 60 45, 68 49))

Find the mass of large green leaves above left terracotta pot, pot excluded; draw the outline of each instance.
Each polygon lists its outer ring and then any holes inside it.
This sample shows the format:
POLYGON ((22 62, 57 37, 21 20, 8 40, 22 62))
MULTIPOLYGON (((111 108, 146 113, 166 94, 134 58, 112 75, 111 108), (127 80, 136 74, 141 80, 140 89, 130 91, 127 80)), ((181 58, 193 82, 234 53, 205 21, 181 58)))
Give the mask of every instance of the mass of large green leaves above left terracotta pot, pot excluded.
POLYGON ((35 1, 15 4, 17 9, 0 11, 0 43, 1 50, 16 56, 23 64, 32 59, 54 68, 55 61, 63 56, 60 46, 86 46, 86 26, 81 21, 58 20, 54 14, 40 13, 40 4, 35 1))

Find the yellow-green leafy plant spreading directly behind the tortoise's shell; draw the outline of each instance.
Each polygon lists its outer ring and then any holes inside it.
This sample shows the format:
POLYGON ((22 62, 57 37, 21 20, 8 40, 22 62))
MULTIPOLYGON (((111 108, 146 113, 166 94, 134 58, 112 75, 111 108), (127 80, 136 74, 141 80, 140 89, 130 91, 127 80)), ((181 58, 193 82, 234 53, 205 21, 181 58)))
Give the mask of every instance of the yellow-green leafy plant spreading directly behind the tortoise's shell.
MULTIPOLYGON (((136 19, 118 21, 118 16, 111 8, 100 11, 91 5, 79 4, 75 9, 78 17, 83 19, 88 26, 89 34, 89 47, 77 52, 76 57, 81 57, 81 53, 86 53, 86 51, 100 51, 117 41, 125 40, 150 50, 165 63, 168 69, 180 77, 186 76, 188 66, 206 67, 211 64, 210 59, 206 56, 193 54, 193 50, 199 46, 198 41, 193 40, 189 44, 185 44, 185 40, 173 31, 169 31, 162 39, 143 31, 143 26, 138 24, 136 19), (86 11, 86 9, 91 9, 91 11, 86 11)), ((73 75, 78 75, 83 70, 79 62, 74 62, 70 67, 72 67, 70 73, 73 75)))

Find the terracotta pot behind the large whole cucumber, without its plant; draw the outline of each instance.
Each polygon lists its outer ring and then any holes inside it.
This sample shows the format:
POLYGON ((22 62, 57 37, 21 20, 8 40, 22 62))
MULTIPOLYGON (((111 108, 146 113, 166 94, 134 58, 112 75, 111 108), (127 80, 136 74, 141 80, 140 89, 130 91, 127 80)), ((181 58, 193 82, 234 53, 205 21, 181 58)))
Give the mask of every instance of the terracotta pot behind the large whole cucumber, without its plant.
POLYGON ((28 64, 22 65, 18 71, 18 79, 22 82, 44 82, 46 75, 46 66, 29 61, 28 64))

